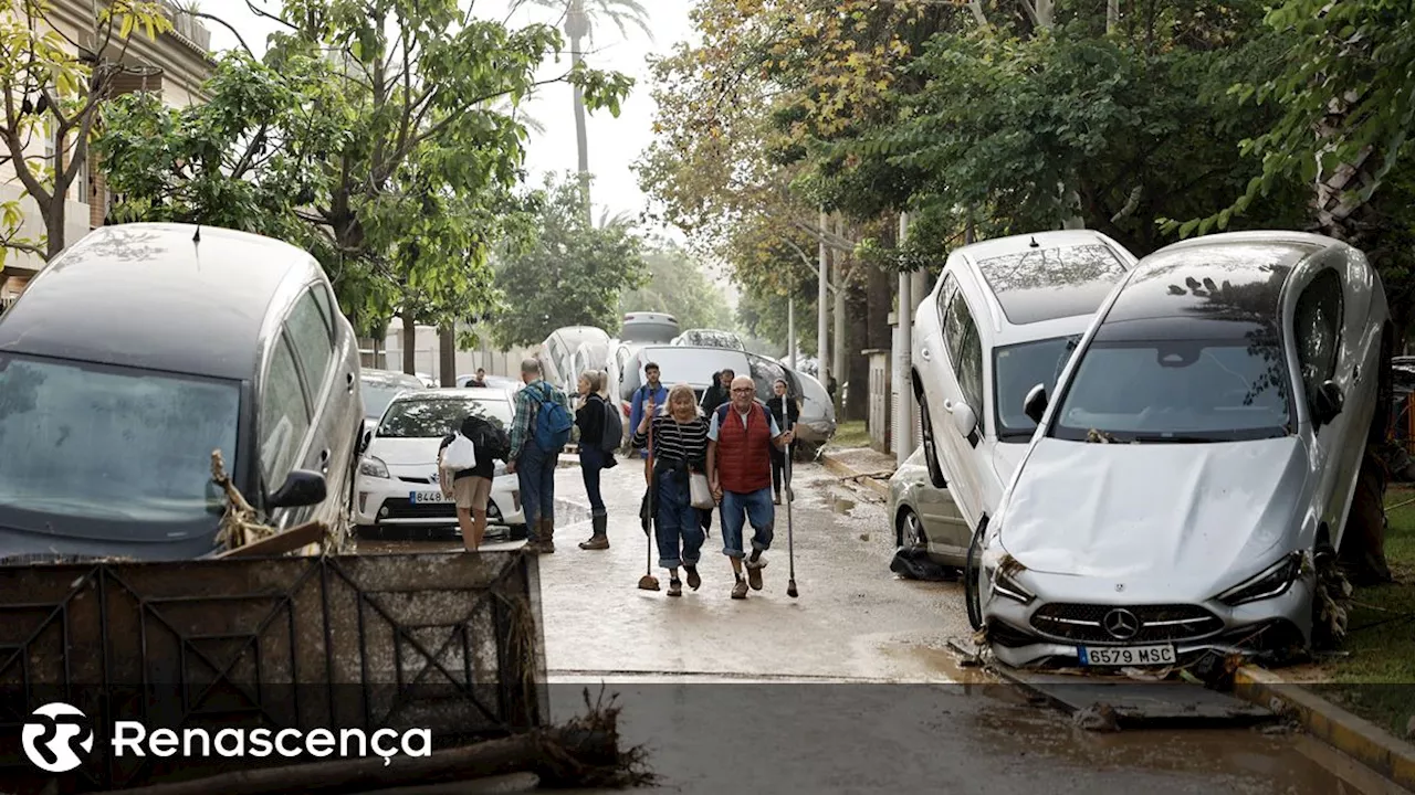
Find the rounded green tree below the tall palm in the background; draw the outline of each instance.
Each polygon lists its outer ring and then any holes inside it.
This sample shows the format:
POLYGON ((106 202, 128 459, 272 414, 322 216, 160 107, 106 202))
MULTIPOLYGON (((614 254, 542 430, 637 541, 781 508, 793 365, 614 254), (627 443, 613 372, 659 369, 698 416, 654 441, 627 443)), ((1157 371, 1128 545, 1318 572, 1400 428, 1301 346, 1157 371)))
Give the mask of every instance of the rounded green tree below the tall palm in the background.
POLYGON ((535 242, 505 252, 497 267, 497 287, 505 298, 492 340, 504 348, 535 345, 563 325, 614 334, 624 290, 642 287, 649 277, 642 243, 628 225, 593 226, 574 175, 546 177, 533 201, 539 205, 535 242))

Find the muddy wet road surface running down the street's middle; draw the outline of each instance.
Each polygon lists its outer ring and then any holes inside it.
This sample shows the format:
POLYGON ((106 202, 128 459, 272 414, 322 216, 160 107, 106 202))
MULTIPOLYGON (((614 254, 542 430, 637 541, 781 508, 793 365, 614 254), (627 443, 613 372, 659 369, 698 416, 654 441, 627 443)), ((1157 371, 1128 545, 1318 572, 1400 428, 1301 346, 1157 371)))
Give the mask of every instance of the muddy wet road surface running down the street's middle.
MULTIPOLYGON (((583 501, 577 470, 558 497, 583 501)), ((560 516, 558 552, 541 557, 552 712, 583 712, 607 687, 624 707, 627 744, 644 744, 655 788, 676 792, 1398 792, 1300 734, 1259 729, 1092 733, 1037 706, 947 649, 968 635, 957 584, 889 570, 884 508, 819 465, 799 465, 767 553, 766 588, 729 597, 715 516, 699 591, 637 587, 641 461, 604 474, 611 547, 584 552, 586 512, 560 516)), ((361 545, 361 550, 400 545, 361 545)), ((457 549, 458 542, 410 545, 457 549)), ((497 545, 501 546, 501 545, 497 545)))

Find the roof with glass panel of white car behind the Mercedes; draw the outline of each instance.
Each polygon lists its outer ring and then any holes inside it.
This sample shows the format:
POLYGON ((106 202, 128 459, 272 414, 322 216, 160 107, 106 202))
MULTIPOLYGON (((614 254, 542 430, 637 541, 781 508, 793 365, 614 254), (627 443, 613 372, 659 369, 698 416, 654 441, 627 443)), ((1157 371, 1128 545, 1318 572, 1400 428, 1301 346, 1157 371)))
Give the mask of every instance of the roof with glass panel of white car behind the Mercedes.
MULTIPOLYGON (((989 297, 993 331, 1071 317, 1090 317, 1105 301, 1135 256, 1115 240, 1090 229, 1012 235, 955 249, 966 266, 972 287, 989 297), (1057 262, 1046 257, 1057 249, 1099 246, 1094 256, 1057 262), (1000 317, 996 317, 1000 313, 1000 317)), ((961 279, 961 282, 964 282, 961 279)), ((1024 334, 1037 337, 1041 331, 1024 334)))

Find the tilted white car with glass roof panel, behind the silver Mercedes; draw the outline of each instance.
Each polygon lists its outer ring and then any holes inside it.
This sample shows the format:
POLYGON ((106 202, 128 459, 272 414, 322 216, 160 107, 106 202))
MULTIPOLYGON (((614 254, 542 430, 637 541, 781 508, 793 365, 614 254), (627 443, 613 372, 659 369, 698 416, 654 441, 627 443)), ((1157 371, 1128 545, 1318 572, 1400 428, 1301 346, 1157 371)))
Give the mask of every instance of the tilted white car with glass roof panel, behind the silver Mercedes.
POLYGON ((1002 498, 1036 423, 1034 383, 1056 382, 1135 256, 1091 231, 1039 232, 954 249, 916 314, 913 383, 931 482, 968 526, 1002 498))

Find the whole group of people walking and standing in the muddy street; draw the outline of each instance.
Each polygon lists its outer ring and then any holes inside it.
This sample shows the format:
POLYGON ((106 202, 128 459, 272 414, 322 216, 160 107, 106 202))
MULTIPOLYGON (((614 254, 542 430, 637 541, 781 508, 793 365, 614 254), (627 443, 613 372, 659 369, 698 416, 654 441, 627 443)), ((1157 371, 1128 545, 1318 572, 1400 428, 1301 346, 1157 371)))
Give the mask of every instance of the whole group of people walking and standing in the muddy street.
MULTIPOLYGON (((713 508, 719 508, 722 552, 732 564, 734 580, 732 598, 747 598, 749 588, 763 587, 761 570, 767 566, 763 553, 771 549, 782 488, 788 501, 794 498, 787 457, 794 453, 799 406, 790 398, 785 379, 777 379, 774 396, 761 403, 756 398, 756 382, 730 369, 715 373, 715 383, 700 400, 686 383, 665 388, 657 364, 647 364, 644 373, 647 383, 634 392, 630 407, 630 448, 645 461, 648 488, 641 519, 645 532, 652 526, 659 566, 669 571, 668 596, 682 596, 679 571, 686 574, 689 588, 702 586, 698 566, 713 508), (753 530, 750 550, 744 540, 747 523, 753 530)), ((580 474, 591 522, 591 536, 579 546, 608 549, 608 512, 600 475, 618 464, 614 453, 623 429, 618 409, 604 393, 604 373, 580 373, 573 405, 563 390, 542 378, 541 364, 533 358, 521 364, 521 381, 525 388, 515 396, 505 461, 507 471, 519 478, 526 549, 542 555, 555 552, 555 470, 560 450, 542 448, 532 430, 538 413, 553 412, 552 406, 572 413, 579 429, 580 474)), ((494 464, 490 455, 483 465, 485 424, 480 417, 467 417, 460 429, 477 444, 477 468, 444 474, 444 481, 453 482, 457 519, 468 550, 481 545, 491 491, 494 464)), ((443 448, 454 439, 456 434, 449 434, 443 448)))

